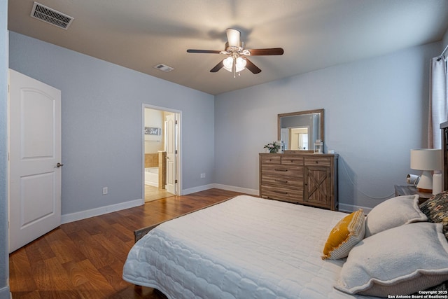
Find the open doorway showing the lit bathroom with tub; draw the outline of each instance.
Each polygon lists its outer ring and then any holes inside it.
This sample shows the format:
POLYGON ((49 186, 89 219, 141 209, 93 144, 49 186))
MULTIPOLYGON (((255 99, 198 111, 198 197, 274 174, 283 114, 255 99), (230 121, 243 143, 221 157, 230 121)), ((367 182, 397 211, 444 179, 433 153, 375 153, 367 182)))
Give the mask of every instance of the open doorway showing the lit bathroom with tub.
POLYGON ((181 112, 144 104, 143 116, 145 202, 180 195, 181 112))

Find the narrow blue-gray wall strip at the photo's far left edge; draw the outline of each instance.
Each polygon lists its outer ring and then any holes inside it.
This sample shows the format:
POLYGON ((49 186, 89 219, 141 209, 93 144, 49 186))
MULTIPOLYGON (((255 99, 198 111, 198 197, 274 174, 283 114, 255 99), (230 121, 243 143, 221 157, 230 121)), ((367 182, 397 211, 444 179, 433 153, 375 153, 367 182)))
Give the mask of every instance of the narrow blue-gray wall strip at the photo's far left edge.
POLYGON ((0 0, 0 299, 9 298, 8 256, 8 1, 0 0))

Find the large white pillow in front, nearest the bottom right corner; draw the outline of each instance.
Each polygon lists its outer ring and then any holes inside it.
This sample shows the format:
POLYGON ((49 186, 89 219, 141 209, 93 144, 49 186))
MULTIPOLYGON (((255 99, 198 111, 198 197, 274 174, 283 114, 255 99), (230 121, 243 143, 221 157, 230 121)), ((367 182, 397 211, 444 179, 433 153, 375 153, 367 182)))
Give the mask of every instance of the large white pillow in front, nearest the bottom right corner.
POLYGON ((448 280, 442 223, 412 223, 363 239, 351 249, 337 288, 349 294, 411 294, 448 280))

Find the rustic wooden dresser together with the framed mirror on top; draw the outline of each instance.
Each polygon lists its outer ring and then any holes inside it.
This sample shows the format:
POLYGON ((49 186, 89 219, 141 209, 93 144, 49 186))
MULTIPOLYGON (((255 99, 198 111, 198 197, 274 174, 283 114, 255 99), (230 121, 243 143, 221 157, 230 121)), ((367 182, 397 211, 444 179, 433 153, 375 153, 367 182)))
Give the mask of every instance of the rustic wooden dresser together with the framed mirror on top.
POLYGON ((260 153, 260 197, 337 211, 337 158, 314 151, 323 142, 323 109, 278 115, 285 153, 260 153))

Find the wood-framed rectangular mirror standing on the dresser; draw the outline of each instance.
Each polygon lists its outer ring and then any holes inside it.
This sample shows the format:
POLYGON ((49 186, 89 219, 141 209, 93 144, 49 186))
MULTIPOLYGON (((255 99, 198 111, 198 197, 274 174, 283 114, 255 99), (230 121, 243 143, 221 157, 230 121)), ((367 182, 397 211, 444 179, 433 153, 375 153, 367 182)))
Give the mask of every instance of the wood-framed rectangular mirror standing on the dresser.
POLYGON ((279 114, 278 138, 286 151, 314 151, 314 142, 323 141, 323 109, 279 114))

